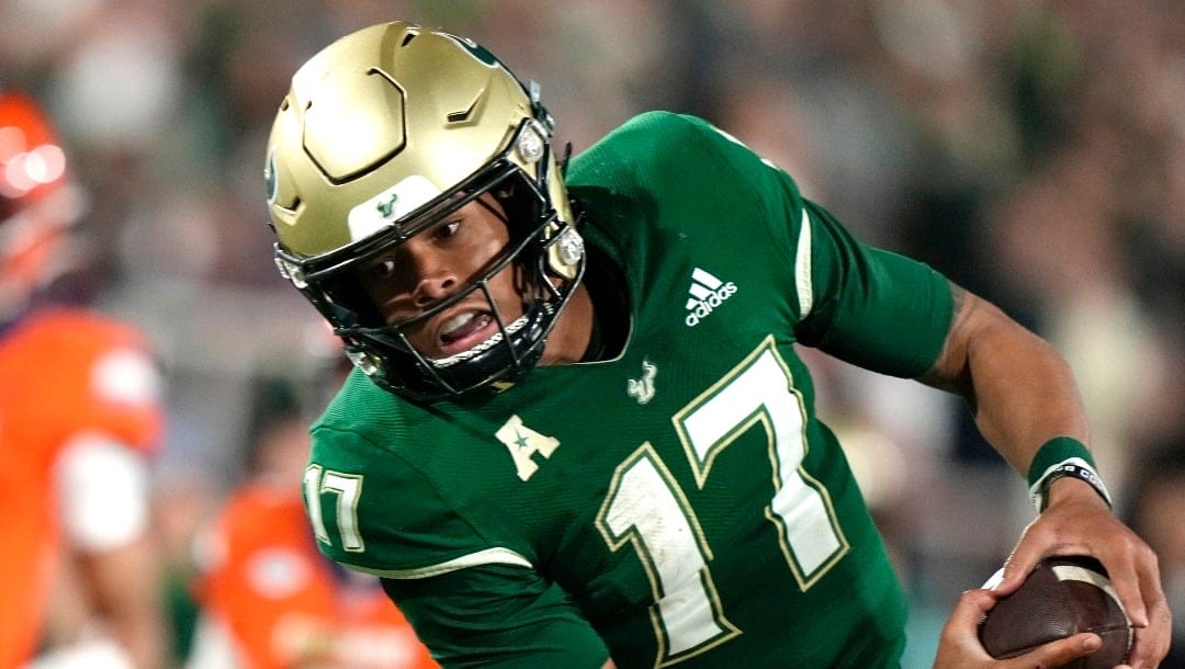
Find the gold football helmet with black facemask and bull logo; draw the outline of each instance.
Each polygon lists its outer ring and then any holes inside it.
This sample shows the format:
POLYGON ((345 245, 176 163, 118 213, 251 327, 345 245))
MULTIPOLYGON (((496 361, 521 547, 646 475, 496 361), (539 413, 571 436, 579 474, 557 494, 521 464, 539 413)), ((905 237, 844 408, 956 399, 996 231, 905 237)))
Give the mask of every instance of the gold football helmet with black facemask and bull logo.
POLYGON ((267 149, 276 264, 379 386, 430 401, 505 387, 538 361, 584 269, 552 128, 533 84, 481 46, 416 25, 363 28, 295 73, 267 149), (501 255, 459 292, 386 323, 359 263, 486 193, 506 212, 501 255), (524 315, 502 322, 486 283, 512 263, 530 285, 524 315), (444 360, 409 343, 410 327, 478 290, 498 334, 444 360))

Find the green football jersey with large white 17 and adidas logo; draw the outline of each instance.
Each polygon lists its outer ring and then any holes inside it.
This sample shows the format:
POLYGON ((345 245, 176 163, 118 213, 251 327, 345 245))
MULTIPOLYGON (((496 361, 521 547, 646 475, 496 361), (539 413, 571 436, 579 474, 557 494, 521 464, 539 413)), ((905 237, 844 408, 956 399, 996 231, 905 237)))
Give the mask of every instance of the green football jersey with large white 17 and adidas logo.
POLYGON ((904 596, 794 345, 921 374, 946 279, 692 117, 630 121, 568 182, 623 352, 428 406, 354 372, 313 427, 321 549, 449 667, 897 665, 904 596))

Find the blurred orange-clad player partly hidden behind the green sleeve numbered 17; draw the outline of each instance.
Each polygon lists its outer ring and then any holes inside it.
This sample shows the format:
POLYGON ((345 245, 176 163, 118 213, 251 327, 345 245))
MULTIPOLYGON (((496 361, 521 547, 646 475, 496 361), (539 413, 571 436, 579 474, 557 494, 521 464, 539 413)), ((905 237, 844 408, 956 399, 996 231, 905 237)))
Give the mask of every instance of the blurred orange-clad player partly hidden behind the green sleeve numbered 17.
POLYGON ((261 390, 251 475, 199 541, 203 615, 186 669, 438 667, 378 578, 318 551, 299 485, 307 419, 288 384, 261 390))

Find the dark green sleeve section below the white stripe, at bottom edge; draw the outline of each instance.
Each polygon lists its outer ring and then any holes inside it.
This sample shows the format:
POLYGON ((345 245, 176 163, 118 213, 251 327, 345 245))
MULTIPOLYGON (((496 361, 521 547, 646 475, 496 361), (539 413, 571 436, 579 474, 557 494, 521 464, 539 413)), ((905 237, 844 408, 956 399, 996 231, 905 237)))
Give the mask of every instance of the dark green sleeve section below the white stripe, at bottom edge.
POLYGON ((485 565, 383 587, 444 668, 594 669, 609 657, 563 588, 526 567, 485 565))

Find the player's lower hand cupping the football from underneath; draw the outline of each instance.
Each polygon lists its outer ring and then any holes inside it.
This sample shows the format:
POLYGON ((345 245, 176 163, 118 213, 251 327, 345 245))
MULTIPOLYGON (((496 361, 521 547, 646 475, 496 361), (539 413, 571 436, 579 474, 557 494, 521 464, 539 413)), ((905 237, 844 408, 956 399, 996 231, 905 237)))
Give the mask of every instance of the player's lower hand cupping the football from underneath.
POLYGON ((1102 648, 1097 635, 1081 633, 1037 647, 1010 660, 992 660, 979 641, 979 622, 995 606, 991 590, 968 590, 959 598, 939 637, 934 669, 1035 669, 1062 667, 1102 648))

